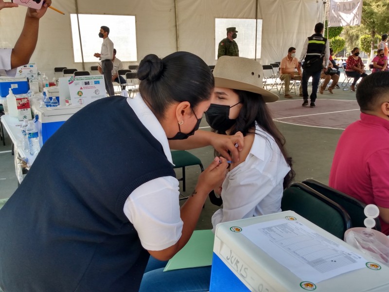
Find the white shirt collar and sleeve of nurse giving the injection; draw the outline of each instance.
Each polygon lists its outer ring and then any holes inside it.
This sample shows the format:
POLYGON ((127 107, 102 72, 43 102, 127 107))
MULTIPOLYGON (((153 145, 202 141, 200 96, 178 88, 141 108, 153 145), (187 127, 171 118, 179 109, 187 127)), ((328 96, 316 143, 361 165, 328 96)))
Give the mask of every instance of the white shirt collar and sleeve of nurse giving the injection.
MULTIPOLYGON (((173 164, 165 131, 141 94, 127 98, 127 102, 141 123, 162 145, 166 158, 173 164)), ((143 183, 125 201, 124 214, 134 225, 146 250, 166 249, 176 244, 181 237, 183 222, 178 197, 178 181, 168 176, 143 183)))

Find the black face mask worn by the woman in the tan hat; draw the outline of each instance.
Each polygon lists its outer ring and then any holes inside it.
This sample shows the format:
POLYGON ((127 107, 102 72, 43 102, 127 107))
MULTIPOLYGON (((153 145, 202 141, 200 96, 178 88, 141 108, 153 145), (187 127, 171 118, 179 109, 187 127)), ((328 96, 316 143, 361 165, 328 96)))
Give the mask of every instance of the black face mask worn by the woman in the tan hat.
POLYGON ((209 109, 205 112, 205 119, 212 129, 215 129, 218 132, 225 132, 231 128, 236 119, 230 119, 230 108, 240 104, 234 104, 233 106, 223 106, 211 104, 209 109))

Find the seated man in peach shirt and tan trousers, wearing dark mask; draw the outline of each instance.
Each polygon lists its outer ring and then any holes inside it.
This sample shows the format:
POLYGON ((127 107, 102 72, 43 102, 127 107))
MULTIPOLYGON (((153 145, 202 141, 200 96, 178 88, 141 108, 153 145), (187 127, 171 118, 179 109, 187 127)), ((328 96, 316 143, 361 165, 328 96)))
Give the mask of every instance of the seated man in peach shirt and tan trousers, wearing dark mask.
MULTIPOLYGON (((296 49, 290 47, 288 49, 288 55, 281 60, 281 64, 280 64, 280 79, 283 80, 284 82, 283 95, 286 98, 292 98, 292 95, 289 94, 290 79, 301 81, 301 76, 302 76, 301 68, 299 65, 299 60, 295 57, 295 55, 296 55, 296 49)), ((299 91, 300 91, 300 96, 302 96, 301 83, 300 83, 299 91)))

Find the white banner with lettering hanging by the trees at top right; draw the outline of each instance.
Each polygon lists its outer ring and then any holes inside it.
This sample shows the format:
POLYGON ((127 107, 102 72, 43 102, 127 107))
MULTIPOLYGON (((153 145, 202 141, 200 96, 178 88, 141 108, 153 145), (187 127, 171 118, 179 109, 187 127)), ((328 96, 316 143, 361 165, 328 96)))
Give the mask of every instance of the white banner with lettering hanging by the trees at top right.
POLYGON ((361 24, 362 0, 331 0, 328 26, 349 26, 361 24))

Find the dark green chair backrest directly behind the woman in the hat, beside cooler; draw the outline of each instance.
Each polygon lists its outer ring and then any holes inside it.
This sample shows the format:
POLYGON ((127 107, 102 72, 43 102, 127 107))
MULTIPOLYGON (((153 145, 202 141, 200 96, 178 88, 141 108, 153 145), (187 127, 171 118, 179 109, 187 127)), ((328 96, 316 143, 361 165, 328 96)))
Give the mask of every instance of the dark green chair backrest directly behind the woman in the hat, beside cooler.
POLYGON ((303 183, 292 183, 283 191, 281 209, 295 211, 340 239, 351 228, 350 216, 339 204, 303 183))

